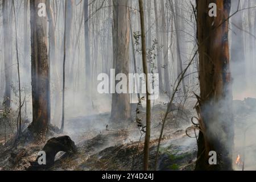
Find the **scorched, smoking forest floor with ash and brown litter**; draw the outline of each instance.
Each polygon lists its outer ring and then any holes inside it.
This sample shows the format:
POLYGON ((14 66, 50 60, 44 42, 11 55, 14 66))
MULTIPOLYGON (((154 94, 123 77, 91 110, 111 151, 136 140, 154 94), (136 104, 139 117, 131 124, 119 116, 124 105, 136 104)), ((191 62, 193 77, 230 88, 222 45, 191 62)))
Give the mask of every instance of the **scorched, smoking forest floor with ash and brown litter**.
MULTIPOLYGON (((163 138, 160 144, 158 170, 193 170, 195 167, 197 144, 195 138, 189 138, 185 130, 191 126, 191 117, 196 116, 195 111, 187 107, 179 111, 172 111, 167 118, 163 138)), ((240 155, 241 160, 234 164, 234 168, 240 170, 246 148, 245 169, 254 169, 255 146, 251 140, 242 142, 248 127, 254 117, 256 100, 234 102, 235 130, 235 154, 240 155), (245 119, 246 115, 246 119, 245 119), (243 122, 240 122, 243 120, 243 122), (246 126, 246 127, 245 127, 246 126), (246 146, 246 147, 245 147, 246 146), (248 150, 250 148, 250 150, 248 150)), ((135 113, 133 106, 132 113, 135 113)), ((141 117, 144 122, 144 109, 141 117)), ((162 127, 162 118, 166 112, 166 105, 156 104, 152 109, 151 142, 150 142, 150 169, 155 168, 155 155, 158 146, 158 138, 162 127)), ((55 166, 51 170, 141 170, 143 169, 143 142, 144 138, 138 129, 136 122, 127 122, 125 129, 115 127, 108 122, 110 113, 101 113, 89 116, 81 116, 67 119, 65 133, 76 143, 77 152, 71 156, 59 152, 55 158, 55 166), (108 127, 107 127, 108 125, 108 127)), ((133 115, 135 121, 135 115, 133 115)), ((252 131, 248 131, 251 138, 252 131)), ((188 134, 194 136, 192 129, 188 134)), ((60 136, 55 134, 54 137, 60 136)), ((51 136, 53 137, 53 136, 51 136)), ((51 138, 49 137, 49 138, 51 138)), ((49 139, 48 138, 48 139, 49 139)), ((16 147, 0 145, 0 170, 24 170, 34 161, 44 144, 23 142, 16 147)), ((236 156, 234 156, 236 158, 236 156)), ((234 159, 234 162, 236 159, 234 159)))

